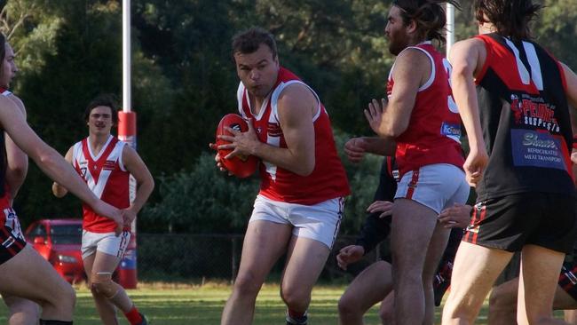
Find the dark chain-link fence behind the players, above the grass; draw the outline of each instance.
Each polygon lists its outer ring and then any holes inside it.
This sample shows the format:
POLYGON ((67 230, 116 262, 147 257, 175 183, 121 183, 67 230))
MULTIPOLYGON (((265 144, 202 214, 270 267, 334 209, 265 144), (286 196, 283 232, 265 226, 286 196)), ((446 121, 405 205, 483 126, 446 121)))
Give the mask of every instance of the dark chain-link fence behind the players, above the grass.
MULTIPOLYGON (((138 279, 140 281, 233 281, 241 262, 242 234, 138 234, 138 279)), ((324 281, 350 281, 362 269, 387 254, 383 242, 345 272, 336 266, 336 254, 354 243, 354 236, 339 236, 321 273, 324 281)), ((516 258, 514 258, 515 260, 516 258)), ((515 265, 518 262, 513 262, 515 265)), ((280 275, 284 258, 273 267, 280 275)), ((518 274, 510 266, 501 281, 518 274)), ((274 275, 273 275, 274 276, 274 275)))

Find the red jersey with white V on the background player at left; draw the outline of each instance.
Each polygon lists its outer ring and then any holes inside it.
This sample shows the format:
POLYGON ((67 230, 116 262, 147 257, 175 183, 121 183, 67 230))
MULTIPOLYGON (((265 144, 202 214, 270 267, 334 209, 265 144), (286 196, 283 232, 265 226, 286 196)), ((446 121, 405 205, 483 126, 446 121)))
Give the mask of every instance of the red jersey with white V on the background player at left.
MULTIPOLYGON (((130 173, 123 165, 125 142, 109 136, 98 155, 93 155, 88 138, 75 143, 72 164, 88 187, 100 200, 118 209, 130 206, 130 173)), ((112 233, 116 223, 111 218, 99 216, 83 203, 83 229, 92 233, 112 233)), ((125 227, 130 231, 130 227, 125 227)))

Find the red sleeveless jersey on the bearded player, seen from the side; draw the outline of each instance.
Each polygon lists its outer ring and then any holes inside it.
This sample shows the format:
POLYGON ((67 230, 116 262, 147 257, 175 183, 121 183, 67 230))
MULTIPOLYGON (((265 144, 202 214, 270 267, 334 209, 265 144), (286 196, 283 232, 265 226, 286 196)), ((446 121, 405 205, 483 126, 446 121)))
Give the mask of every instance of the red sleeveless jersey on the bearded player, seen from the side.
MULTIPOLYGON (((427 55, 431 60, 431 76, 416 94, 407 130, 395 139, 400 174, 435 163, 448 163, 462 169, 461 118, 451 91, 451 66, 429 41, 407 49, 427 55)), ((387 83, 389 96, 394 87, 393 69, 394 65, 387 83)))

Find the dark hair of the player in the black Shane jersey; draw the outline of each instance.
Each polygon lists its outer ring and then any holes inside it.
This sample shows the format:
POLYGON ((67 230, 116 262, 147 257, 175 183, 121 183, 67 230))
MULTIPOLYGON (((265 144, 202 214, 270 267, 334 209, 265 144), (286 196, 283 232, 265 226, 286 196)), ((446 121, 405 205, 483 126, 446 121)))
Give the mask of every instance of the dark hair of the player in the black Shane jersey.
POLYGON ((479 22, 488 20, 497 34, 509 36, 513 41, 531 38, 529 22, 541 8, 541 4, 533 4, 531 0, 475 0, 473 3, 479 22))

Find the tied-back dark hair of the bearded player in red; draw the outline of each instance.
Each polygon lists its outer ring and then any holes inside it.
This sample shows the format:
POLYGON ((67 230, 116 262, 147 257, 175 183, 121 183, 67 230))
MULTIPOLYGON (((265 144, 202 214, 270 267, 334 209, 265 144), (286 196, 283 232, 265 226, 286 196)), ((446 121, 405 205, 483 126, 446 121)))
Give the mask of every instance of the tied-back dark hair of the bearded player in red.
POLYGON ((453 4, 461 9, 456 0, 394 0, 392 5, 401 9, 400 16, 403 24, 408 25, 415 20, 417 32, 425 39, 436 39, 445 43, 445 25, 447 16, 441 4, 453 4))

